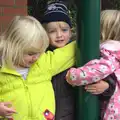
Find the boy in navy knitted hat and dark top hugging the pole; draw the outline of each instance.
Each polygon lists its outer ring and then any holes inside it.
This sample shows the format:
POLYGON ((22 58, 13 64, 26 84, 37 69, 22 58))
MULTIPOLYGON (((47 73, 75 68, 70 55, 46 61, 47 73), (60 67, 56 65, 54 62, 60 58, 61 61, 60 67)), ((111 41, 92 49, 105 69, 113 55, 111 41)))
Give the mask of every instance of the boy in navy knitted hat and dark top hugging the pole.
MULTIPOLYGON (((59 1, 48 4, 42 23, 50 39, 48 50, 53 51, 56 48, 65 46, 71 41, 72 24, 68 16, 67 6, 63 2, 59 1)), ((55 120, 75 120, 74 88, 66 82, 66 72, 67 70, 54 76, 52 79, 56 99, 55 120)), ((96 94, 103 93, 101 95, 102 97, 100 96, 103 98, 105 90, 111 90, 111 87, 114 88, 112 81, 112 79, 108 79, 107 82, 101 81, 92 85, 91 89, 87 91, 96 94)), ((114 89, 112 90, 114 91, 114 89)), ((105 96, 107 95, 106 91, 105 96)))

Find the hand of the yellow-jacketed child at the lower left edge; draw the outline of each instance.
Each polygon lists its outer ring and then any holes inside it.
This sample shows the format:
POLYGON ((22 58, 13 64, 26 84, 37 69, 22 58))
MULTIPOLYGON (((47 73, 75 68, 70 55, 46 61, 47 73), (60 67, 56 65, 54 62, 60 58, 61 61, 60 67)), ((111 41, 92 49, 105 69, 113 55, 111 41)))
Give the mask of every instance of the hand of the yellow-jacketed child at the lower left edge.
POLYGON ((11 116, 16 113, 10 102, 0 102, 0 116, 11 116))

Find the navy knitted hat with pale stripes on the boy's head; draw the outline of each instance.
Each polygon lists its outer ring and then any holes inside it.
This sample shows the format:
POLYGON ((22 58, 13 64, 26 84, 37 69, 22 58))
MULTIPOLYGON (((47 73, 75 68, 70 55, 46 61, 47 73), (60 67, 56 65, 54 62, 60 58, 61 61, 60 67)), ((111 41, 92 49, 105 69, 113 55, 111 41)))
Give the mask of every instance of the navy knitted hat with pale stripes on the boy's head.
POLYGON ((72 27, 67 6, 63 2, 51 2, 48 4, 41 23, 49 23, 55 21, 64 21, 68 23, 70 27, 72 27))

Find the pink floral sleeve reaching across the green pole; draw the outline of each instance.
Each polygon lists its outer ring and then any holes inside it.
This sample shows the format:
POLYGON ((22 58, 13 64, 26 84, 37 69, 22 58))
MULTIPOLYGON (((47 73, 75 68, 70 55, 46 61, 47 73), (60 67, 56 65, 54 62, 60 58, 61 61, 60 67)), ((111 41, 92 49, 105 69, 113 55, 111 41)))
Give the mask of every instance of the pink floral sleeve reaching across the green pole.
POLYGON ((68 71, 70 74, 67 82, 75 86, 94 83, 104 79, 117 68, 119 68, 119 62, 114 57, 91 60, 83 67, 71 68, 68 71))

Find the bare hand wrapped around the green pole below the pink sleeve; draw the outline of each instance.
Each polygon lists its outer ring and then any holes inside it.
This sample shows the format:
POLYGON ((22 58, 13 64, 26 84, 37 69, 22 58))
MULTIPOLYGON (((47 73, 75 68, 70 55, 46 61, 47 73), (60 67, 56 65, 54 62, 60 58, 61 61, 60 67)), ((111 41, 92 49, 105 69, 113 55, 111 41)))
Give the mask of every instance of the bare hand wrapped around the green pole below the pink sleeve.
POLYGON ((109 88, 109 84, 103 80, 101 80, 95 84, 85 86, 85 90, 92 94, 101 94, 108 88, 109 88))

